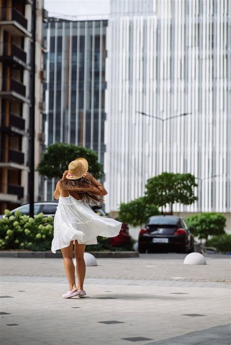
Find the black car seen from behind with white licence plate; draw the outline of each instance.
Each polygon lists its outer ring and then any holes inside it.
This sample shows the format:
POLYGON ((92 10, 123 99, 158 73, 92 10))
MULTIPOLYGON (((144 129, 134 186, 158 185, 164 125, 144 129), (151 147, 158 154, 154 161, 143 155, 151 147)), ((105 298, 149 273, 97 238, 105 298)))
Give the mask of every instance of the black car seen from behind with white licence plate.
POLYGON ((187 225, 180 217, 153 216, 140 230, 138 239, 139 253, 193 252, 194 239, 187 225))

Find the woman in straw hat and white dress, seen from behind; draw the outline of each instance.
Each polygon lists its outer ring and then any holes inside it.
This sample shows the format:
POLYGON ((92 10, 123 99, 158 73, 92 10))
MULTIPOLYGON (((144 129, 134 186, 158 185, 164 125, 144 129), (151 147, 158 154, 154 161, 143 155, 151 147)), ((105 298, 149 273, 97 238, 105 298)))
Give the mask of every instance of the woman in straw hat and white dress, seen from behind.
POLYGON ((86 244, 97 244, 96 236, 114 237, 119 234, 122 223, 112 218, 102 218, 90 207, 89 202, 103 201, 107 191, 87 172, 88 162, 78 158, 71 162, 62 179, 57 182, 54 198, 58 207, 54 218, 54 238, 51 250, 62 252, 69 290, 63 298, 84 296, 85 278, 84 250, 86 244), (73 263, 73 244, 77 262, 77 280, 73 263))

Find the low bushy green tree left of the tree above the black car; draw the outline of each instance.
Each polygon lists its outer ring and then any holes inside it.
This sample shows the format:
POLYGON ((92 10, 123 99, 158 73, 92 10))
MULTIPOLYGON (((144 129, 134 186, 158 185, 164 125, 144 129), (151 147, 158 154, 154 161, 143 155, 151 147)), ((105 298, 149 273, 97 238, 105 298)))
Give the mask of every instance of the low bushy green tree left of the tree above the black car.
POLYGON ((142 226, 151 216, 159 215, 157 206, 149 204, 146 197, 140 197, 128 203, 121 203, 119 220, 133 226, 142 226))

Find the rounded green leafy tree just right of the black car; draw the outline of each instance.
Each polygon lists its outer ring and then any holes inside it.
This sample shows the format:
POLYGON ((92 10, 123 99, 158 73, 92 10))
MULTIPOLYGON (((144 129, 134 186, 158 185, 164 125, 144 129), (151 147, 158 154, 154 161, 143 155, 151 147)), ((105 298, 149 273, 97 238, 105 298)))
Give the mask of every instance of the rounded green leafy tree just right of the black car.
POLYGON ((210 235, 222 235, 226 218, 221 213, 204 212, 185 219, 189 230, 199 239, 207 239, 210 235))

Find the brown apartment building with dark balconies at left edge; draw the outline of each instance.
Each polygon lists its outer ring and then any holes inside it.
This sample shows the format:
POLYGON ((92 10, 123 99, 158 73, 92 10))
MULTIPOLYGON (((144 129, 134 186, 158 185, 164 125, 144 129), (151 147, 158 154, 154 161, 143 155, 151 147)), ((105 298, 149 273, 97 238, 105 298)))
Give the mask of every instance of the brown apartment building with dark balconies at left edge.
MULTIPOLYGON (((36 164, 44 142, 42 84, 44 40, 42 21, 47 13, 37 1, 36 42, 36 164)), ((31 99, 32 1, 0 0, 0 214, 28 200, 28 145, 31 99)), ((35 198, 40 179, 36 175, 35 198)))

